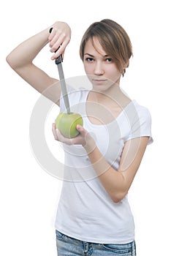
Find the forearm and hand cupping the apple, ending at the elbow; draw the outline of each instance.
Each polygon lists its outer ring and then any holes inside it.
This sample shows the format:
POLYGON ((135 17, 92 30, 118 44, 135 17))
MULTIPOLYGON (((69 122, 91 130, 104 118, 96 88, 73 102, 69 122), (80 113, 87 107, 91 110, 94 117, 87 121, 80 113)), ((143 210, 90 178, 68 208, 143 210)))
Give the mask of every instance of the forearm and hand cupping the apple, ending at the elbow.
POLYGON ((75 138, 68 139, 64 138, 64 136, 61 135, 61 132, 58 130, 56 131, 55 124, 53 124, 53 135, 56 140, 66 143, 67 145, 83 146, 104 189, 106 189, 114 202, 118 202, 124 197, 126 191, 124 176, 121 172, 116 171, 108 164, 99 151, 99 148, 97 148, 94 138, 91 137, 86 129, 77 125, 77 130, 80 132, 80 135, 75 138))

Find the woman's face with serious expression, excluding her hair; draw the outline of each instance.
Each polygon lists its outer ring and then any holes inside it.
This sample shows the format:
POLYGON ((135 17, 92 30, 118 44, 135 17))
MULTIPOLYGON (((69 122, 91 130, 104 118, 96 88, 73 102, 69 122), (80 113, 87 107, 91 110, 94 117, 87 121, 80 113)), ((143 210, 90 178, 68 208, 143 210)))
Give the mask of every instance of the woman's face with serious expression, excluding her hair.
POLYGON ((105 53, 96 37, 94 37, 94 45, 91 39, 86 42, 83 56, 84 69, 94 90, 107 91, 114 83, 119 84, 121 72, 113 59, 105 53))

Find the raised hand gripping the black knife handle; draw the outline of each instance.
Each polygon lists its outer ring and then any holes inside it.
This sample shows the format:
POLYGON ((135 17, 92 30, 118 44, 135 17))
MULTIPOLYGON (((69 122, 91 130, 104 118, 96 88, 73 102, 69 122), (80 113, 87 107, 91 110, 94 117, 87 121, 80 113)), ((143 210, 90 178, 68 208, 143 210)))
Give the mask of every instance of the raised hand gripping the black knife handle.
POLYGON ((50 52, 54 53, 51 59, 54 60, 60 55, 64 59, 66 45, 68 45, 71 39, 71 29, 67 23, 61 21, 56 21, 52 28, 53 30, 48 37, 50 52))

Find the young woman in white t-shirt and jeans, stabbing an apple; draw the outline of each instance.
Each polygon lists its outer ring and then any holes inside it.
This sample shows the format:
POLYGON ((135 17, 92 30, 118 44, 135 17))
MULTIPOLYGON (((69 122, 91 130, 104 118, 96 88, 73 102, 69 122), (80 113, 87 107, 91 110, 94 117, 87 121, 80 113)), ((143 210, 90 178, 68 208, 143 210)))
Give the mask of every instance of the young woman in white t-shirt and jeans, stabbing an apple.
MULTIPOLYGON (((58 80, 33 60, 48 42, 53 60, 64 56, 70 37, 69 26, 56 22, 12 50, 7 62, 40 93, 49 88, 45 95, 56 102, 58 80)), ((120 89, 131 56, 129 36, 113 20, 95 22, 83 35, 80 58, 92 89, 69 93, 71 110, 81 113, 83 127, 77 125, 80 134, 68 139, 53 124, 54 138, 64 143, 66 166, 72 167, 66 170, 56 216, 58 256, 136 255, 127 194, 152 138, 148 109, 120 89)), ((62 97, 56 104, 64 111, 62 97)))

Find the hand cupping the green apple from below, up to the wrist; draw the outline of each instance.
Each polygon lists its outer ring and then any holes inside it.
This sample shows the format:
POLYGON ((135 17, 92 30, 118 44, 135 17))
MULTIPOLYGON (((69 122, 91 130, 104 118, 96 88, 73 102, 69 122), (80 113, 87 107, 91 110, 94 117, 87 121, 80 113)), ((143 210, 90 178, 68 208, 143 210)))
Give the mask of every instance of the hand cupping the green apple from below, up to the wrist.
POLYGON ((66 143, 67 145, 82 145, 86 150, 92 150, 91 148, 95 146, 94 139, 91 137, 88 131, 79 124, 77 124, 77 131, 80 132, 80 134, 75 138, 65 138, 63 135, 61 135, 61 132, 56 129, 55 123, 53 123, 52 130, 55 140, 66 143))

